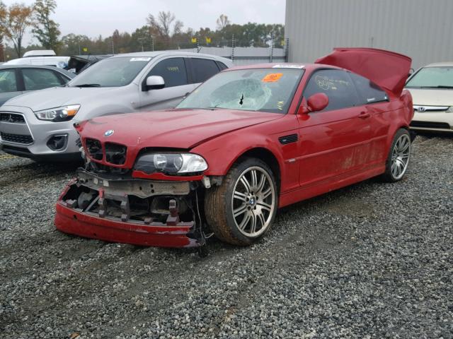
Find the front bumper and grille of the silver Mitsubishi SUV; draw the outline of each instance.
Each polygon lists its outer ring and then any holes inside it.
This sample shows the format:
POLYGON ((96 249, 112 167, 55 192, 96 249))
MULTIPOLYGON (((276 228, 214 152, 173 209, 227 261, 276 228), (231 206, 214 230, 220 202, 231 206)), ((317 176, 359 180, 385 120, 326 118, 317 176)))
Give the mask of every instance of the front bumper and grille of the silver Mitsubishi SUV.
POLYGON ((74 121, 42 121, 28 107, 8 105, 1 107, 0 114, 6 118, 0 119, 0 142, 6 153, 35 160, 80 159, 74 121), (61 147, 52 149, 55 138, 62 138, 61 147))

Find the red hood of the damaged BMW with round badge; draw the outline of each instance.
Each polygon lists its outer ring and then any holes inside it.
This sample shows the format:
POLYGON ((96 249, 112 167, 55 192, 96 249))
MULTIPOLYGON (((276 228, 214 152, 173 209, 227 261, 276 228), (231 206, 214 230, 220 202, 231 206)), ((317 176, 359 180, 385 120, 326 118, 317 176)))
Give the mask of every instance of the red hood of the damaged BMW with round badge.
POLYGON ((234 109, 167 109, 98 117, 82 121, 76 129, 83 138, 121 143, 137 150, 145 147, 190 149, 229 131, 283 116, 234 109), (110 130, 113 133, 105 136, 110 130))

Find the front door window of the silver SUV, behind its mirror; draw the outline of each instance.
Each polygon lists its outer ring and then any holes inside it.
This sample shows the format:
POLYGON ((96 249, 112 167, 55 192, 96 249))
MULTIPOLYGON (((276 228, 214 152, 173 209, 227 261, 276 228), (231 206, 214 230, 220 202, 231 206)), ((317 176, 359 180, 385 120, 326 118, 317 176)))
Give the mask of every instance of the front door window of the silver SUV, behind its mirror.
POLYGON ((165 88, 187 85, 187 73, 183 58, 165 59, 151 69, 148 76, 161 76, 165 88))

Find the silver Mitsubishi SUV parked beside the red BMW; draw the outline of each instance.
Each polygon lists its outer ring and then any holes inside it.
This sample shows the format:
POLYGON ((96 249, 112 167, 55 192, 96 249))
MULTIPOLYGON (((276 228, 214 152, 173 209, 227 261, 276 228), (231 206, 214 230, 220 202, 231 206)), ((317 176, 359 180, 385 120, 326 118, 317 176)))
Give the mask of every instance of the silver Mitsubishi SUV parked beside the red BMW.
POLYGON ((6 153, 35 160, 79 160, 76 121, 175 107, 200 83, 232 66, 229 59, 190 52, 140 52, 103 59, 67 86, 10 100, 1 107, 18 124, 0 121, 6 153))

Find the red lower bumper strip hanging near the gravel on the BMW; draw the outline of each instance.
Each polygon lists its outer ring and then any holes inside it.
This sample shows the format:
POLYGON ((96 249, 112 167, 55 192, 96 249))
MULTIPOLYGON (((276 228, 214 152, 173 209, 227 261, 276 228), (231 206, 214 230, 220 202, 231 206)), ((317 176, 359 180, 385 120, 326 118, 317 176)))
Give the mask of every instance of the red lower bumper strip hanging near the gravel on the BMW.
POLYGON ((202 244, 188 237, 193 222, 180 222, 176 226, 139 225, 117 222, 80 213, 57 203, 55 215, 57 230, 81 237, 156 247, 197 247, 202 244))

